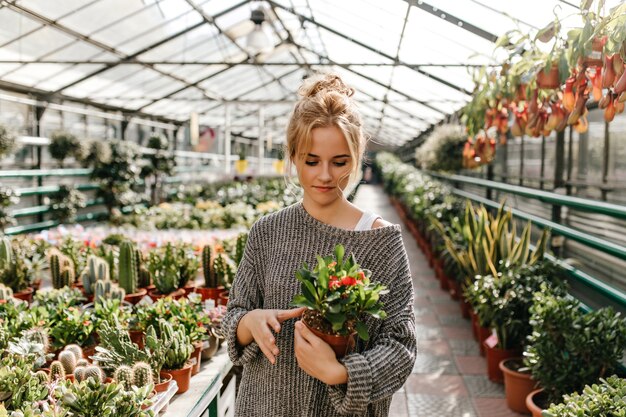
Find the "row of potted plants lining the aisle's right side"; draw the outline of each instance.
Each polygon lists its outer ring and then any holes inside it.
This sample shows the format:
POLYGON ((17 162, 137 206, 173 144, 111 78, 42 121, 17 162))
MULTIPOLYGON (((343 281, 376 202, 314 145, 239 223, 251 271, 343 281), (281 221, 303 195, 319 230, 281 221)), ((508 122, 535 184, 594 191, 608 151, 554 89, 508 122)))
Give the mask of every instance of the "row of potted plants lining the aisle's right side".
POLYGON ((393 155, 379 155, 377 165, 441 287, 472 319, 488 376, 505 380, 512 409, 528 412, 531 397, 538 416, 542 408, 544 416, 608 415, 598 406, 607 401, 626 411, 623 397, 615 403, 606 395, 626 385, 612 376, 626 347, 626 322, 610 307, 585 313, 568 294, 562 271, 544 257, 547 231, 533 248, 531 224, 517 225, 504 205, 494 212, 475 206, 393 155), (521 399, 510 392, 512 371, 525 380, 521 399))

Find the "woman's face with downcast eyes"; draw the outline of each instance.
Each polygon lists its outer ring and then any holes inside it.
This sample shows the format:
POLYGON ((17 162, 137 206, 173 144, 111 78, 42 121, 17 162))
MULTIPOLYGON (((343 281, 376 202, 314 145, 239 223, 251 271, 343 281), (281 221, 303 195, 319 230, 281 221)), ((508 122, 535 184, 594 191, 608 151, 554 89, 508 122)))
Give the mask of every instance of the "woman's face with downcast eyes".
POLYGON ((338 127, 318 127, 311 133, 311 149, 295 165, 305 198, 324 206, 343 198, 352 158, 348 142, 338 127))

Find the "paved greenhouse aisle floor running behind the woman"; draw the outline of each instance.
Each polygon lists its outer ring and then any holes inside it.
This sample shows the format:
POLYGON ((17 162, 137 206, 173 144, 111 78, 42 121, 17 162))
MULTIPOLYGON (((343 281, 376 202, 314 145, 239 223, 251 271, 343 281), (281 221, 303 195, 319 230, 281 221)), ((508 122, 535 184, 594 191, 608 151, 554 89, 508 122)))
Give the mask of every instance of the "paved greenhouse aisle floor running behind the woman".
MULTIPOLYGON (((354 203, 391 223, 400 217, 383 189, 361 185, 354 203)), ((469 320, 461 317, 459 303, 439 289, 435 272, 403 226, 415 290, 418 355, 413 373, 396 393, 392 417, 514 417, 504 399, 504 387, 487 379, 485 358, 472 337, 469 320)))

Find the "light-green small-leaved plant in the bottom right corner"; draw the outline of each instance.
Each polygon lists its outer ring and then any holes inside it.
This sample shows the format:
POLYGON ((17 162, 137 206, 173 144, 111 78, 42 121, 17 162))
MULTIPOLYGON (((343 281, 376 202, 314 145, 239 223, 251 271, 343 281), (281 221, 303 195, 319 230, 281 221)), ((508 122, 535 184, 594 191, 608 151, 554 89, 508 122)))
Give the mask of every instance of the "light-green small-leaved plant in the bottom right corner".
POLYGON ((618 416, 626 412, 626 379, 616 375, 599 383, 585 385, 579 394, 565 394, 563 402, 552 404, 543 412, 544 417, 605 417, 618 416))

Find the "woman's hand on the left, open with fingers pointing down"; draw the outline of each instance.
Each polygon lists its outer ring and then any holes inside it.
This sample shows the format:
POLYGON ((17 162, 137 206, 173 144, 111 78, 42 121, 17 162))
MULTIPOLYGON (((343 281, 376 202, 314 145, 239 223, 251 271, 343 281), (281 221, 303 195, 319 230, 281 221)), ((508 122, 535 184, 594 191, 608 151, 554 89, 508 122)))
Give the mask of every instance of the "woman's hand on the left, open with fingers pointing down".
POLYGON ((305 307, 291 310, 252 310, 239 321, 237 342, 241 346, 247 346, 255 341, 261 348, 261 352, 273 365, 279 350, 272 331, 278 333, 282 322, 300 317, 304 310, 305 307))

